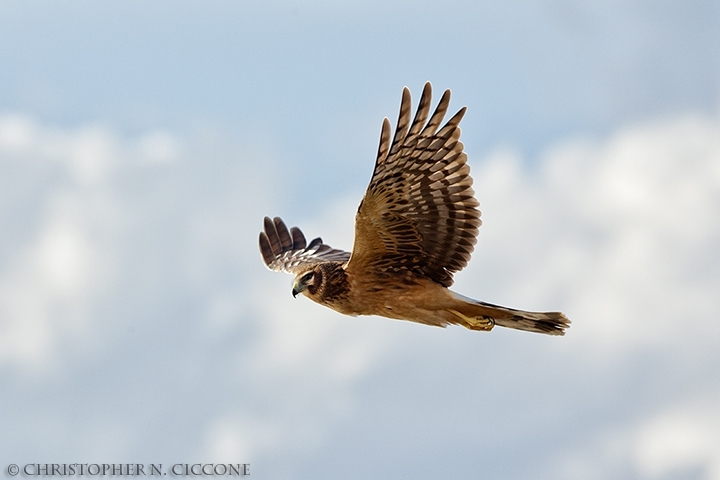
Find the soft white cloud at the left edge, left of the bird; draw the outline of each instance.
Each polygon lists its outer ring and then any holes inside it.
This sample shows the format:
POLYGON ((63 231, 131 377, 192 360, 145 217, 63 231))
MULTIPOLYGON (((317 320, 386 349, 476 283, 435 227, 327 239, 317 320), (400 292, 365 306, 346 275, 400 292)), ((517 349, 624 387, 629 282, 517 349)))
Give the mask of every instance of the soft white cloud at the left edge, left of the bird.
MULTIPOLYGON (((0 117, 1 219, 8 233, 0 264, 0 366, 38 374, 60 368, 83 345, 102 345, 107 306, 142 297, 133 284, 151 294, 160 289, 162 298, 172 294, 160 283, 173 275, 173 264, 202 282, 204 270, 217 268, 213 249, 222 256, 254 248, 237 235, 237 219, 249 212, 235 208, 257 202, 261 187, 251 177, 264 167, 229 152, 228 142, 210 145, 203 135, 192 141, 183 149, 167 132, 128 139, 98 125, 59 129, 0 117), (236 176, 245 185, 223 192, 236 203, 211 205, 213 185, 192 191, 205 173, 195 155, 211 157, 208 168, 226 174, 246 170, 247 178, 236 176), (189 254, 168 257, 178 250, 189 254)), ((272 201, 265 195, 259 203, 272 201)))

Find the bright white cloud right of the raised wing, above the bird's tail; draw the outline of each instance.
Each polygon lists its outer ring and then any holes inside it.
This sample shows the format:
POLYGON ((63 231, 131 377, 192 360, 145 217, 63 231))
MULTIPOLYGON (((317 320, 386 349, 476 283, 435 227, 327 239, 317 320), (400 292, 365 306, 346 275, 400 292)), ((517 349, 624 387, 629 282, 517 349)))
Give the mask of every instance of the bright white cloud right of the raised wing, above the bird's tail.
POLYGON ((563 305, 593 354, 720 333, 720 279, 703 268, 719 254, 719 131, 695 117, 631 127, 551 148, 533 172, 492 155, 474 170, 475 265, 489 262, 505 295, 512 283, 537 308, 563 305))

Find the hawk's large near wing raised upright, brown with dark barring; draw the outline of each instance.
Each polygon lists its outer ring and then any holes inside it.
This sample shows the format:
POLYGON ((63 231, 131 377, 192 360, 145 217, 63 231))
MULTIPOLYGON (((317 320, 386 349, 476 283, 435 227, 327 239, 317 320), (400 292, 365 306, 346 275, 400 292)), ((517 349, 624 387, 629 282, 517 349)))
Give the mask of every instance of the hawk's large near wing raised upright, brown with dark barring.
POLYGON ((438 130, 450 90, 427 120, 431 92, 428 82, 411 125, 410 91, 403 90, 392 143, 390 122, 383 121, 375 170, 355 217, 348 272, 421 275, 448 287, 470 260, 482 222, 459 140, 465 107, 438 130))

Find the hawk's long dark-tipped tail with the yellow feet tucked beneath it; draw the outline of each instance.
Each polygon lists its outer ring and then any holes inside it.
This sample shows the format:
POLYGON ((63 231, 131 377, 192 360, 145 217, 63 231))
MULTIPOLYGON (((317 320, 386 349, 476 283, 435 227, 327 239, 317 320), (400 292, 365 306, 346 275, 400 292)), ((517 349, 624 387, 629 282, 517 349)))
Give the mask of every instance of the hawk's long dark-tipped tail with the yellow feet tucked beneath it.
POLYGON ((491 330, 500 325, 546 335, 565 335, 565 329, 570 327, 570 320, 560 312, 526 312, 455 295, 460 301, 449 311, 458 319, 457 323, 471 330, 491 330))

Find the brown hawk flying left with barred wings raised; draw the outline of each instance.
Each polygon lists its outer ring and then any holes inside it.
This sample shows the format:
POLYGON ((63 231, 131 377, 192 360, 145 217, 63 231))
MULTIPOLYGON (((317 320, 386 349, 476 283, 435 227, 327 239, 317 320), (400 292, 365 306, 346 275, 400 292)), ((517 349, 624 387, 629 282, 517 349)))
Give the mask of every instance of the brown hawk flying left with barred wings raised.
POLYGON ((428 82, 411 121, 405 87, 392 137, 390 121, 383 120, 375 170, 355 216, 352 253, 321 238, 307 243, 299 228, 265 217, 260 232, 265 264, 295 275, 293 296, 305 295, 345 315, 563 335, 570 320, 560 312, 501 307, 448 288, 470 260, 482 222, 460 142, 466 107, 440 127, 450 90, 432 115, 431 96, 428 82))

